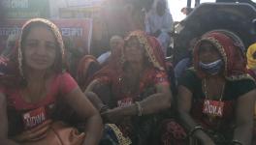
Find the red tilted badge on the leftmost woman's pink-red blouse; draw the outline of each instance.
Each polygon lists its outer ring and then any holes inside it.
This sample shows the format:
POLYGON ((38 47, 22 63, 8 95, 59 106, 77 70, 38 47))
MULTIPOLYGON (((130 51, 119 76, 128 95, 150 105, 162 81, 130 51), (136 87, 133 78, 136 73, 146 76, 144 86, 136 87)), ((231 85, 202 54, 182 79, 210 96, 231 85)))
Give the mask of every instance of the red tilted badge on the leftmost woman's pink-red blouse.
POLYGON ((47 120, 45 107, 39 107, 22 115, 25 129, 34 128, 47 120))

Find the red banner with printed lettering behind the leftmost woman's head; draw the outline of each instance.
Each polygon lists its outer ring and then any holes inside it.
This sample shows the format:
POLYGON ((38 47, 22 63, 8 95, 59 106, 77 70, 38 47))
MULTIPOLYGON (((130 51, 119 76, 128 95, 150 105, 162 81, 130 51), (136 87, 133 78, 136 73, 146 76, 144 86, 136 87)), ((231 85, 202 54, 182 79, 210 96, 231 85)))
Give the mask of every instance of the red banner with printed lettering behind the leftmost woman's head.
MULTIPOLYGON (((0 48, 6 47, 10 35, 19 35, 21 27, 27 19, 8 19, 6 23, 0 24, 0 48)), ((92 20, 82 19, 52 19, 60 29, 63 40, 70 39, 75 47, 82 53, 87 53, 91 41, 92 20)), ((1 51, 0 49, 0 51, 1 51)))

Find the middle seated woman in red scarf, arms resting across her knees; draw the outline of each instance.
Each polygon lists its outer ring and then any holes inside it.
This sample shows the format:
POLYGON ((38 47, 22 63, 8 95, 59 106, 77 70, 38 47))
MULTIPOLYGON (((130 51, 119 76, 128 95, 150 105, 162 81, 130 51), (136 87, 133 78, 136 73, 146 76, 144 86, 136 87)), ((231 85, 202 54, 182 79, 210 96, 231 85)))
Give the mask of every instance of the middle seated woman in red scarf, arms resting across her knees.
POLYGON ((96 73, 85 91, 105 121, 115 123, 136 145, 154 144, 161 121, 156 113, 171 106, 163 54, 157 44, 143 31, 130 33, 119 61, 96 73))

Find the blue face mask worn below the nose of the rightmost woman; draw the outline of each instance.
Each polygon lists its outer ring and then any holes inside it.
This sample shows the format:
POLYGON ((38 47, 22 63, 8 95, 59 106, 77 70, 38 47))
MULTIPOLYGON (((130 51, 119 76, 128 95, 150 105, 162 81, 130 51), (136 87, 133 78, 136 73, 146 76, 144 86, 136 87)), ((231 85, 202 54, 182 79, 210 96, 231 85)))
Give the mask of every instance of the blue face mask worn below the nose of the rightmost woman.
POLYGON ((222 65, 223 65, 223 61, 221 59, 216 60, 209 64, 199 62, 199 66, 200 66, 201 70, 203 72, 211 74, 211 75, 215 75, 215 74, 219 73, 222 65))

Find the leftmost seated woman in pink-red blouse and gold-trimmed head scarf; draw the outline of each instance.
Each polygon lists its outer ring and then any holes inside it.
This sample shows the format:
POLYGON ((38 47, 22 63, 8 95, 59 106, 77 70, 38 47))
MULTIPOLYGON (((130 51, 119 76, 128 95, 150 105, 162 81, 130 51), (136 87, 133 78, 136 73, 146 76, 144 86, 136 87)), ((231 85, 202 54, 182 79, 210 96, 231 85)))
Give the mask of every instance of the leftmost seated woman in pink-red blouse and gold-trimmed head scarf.
POLYGON ((34 18, 24 24, 14 60, 16 72, 1 77, 1 144, 98 144, 101 117, 65 72, 64 56, 61 34, 52 22, 34 18), (83 133, 55 120, 56 104, 62 101, 83 120, 83 133))

